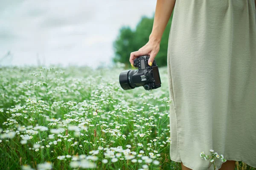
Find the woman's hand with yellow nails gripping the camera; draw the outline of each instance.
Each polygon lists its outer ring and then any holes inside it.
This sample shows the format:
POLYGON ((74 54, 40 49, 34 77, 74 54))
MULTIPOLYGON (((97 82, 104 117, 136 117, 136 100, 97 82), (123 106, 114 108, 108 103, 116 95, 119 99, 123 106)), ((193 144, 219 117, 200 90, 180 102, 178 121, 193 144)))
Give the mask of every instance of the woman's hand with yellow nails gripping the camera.
POLYGON ((160 49, 160 41, 157 40, 149 40, 142 48, 138 51, 131 52, 130 55, 130 62, 131 66, 134 66, 134 59, 143 56, 143 55, 150 55, 148 59, 148 65, 152 65, 154 58, 156 57, 158 51, 160 49))

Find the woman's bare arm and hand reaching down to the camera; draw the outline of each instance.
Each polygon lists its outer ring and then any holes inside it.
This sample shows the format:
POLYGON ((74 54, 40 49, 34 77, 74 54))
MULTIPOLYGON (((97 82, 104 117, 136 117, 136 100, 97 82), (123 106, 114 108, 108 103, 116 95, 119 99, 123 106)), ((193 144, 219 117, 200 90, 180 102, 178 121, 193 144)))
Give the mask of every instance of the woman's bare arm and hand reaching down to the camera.
POLYGON ((153 28, 149 36, 148 43, 138 51, 131 53, 129 60, 131 62, 131 66, 134 65, 135 58, 143 55, 150 55, 148 65, 152 65, 154 58, 160 49, 160 41, 163 36, 163 31, 172 15, 175 1, 176 0, 157 0, 153 28))

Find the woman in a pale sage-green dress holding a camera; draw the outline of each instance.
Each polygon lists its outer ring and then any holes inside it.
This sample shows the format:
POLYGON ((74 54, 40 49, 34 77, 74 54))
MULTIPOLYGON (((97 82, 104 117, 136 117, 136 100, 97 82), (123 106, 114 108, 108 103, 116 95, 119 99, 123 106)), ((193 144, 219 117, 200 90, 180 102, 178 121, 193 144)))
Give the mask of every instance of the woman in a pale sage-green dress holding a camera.
MULTIPOLYGON (((256 0, 157 0, 148 43, 151 65, 173 13, 168 45, 171 160, 183 170, 216 169, 235 161, 256 167, 256 0), (213 169, 213 165, 210 167, 213 169)), ((157 58, 156 58, 157 61, 157 58)))

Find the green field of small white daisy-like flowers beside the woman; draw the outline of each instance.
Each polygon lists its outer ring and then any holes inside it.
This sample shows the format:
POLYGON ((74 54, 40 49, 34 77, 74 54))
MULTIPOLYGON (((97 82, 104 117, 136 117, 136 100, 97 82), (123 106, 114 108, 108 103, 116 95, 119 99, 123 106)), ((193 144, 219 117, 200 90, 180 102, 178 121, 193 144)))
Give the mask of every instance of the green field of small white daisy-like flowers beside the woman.
MULTIPOLYGON (((162 87, 125 91, 123 68, 1 68, 0 169, 181 169, 162 87)), ((199 156, 199 153, 198 153, 199 156)))

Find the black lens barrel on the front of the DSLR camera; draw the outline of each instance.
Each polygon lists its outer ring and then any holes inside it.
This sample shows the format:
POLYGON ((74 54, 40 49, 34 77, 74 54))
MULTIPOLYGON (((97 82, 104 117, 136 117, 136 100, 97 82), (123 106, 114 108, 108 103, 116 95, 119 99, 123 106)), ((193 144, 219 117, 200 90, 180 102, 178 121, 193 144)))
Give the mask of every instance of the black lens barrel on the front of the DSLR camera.
POLYGON ((133 74, 135 74, 136 70, 125 70, 125 71, 122 71, 119 75, 119 83, 121 85, 121 87, 124 89, 124 90, 129 90, 129 89, 133 89, 135 88, 136 86, 133 86, 133 83, 131 82, 131 77, 133 74))

